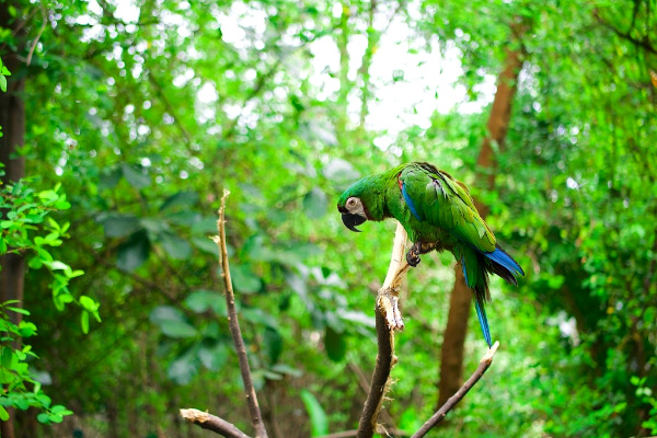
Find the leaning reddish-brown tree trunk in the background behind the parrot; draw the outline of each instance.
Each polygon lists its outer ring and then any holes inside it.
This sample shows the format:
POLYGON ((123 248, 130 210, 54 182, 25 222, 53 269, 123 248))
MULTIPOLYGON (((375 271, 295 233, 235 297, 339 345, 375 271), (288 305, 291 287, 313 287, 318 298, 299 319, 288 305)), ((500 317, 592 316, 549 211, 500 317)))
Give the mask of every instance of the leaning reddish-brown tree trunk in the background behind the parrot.
MULTIPOLYGON (((485 189, 495 188, 495 151, 493 141, 496 141, 502 150, 504 139, 509 127, 511 116, 511 103, 516 94, 516 81, 518 72, 522 67, 522 53, 520 49, 509 50, 505 67, 497 78, 497 91, 493 101, 493 108, 488 117, 488 135, 484 138, 482 149, 476 160, 475 180, 484 181, 485 189)), ((474 201, 482 218, 488 215, 488 207, 474 201)), ((472 292, 465 285, 461 266, 456 267, 457 277, 451 291, 447 326, 445 328, 441 361, 440 382, 438 383, 438 404, 442 406, 461 387, 463 380, 463 357, 468 320, 470 318, 470 302, 472 292)))

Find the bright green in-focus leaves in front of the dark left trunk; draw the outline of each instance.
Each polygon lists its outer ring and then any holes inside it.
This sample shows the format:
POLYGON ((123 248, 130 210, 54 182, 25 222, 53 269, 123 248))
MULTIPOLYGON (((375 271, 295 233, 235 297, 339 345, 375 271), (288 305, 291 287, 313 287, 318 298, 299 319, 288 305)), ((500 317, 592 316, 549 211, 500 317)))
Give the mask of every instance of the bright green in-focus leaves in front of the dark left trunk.
MULTIPOLYGON (((73 270, 61 261, 55 260, 48 247, 61 245, 62 238, 67 237, 69 223, 57 223, 50 215, 55 210, 70 208, 66 195, 59 194, 59 186, 49 191, 36 192, 27 181, 20 181, 12 185, 0 187, 0 254, 21 254, 28 257, 32 269, 47 267, 53 281, 49 288, 53 291, 55 307, 62 311, 65 306, 77 302, 82 308, 82 331, 89 331, 89 315, 92 314, 100 321, 99 303, 93 299, 81 296, 79 299, 70 292, 69 281, 83 274, 73 270)), ((38 358, 32 346, 22 342, 36 334, 36 325, 21 319, 15 323, 10 318, 10 312, 30 315, 30 311, 12 304, 18 300, 5 301, 0 304, 0 331, 4 333, 1 338, 0 383, 5 390, 0 396, 0 416, 9 417, 5 406, 20 410, 36 407, 41 411, 38 420, 42 423, 61 423, 64 416, 72 414, 62 405, 50 405, 50 397, 42 391, 42 382, 30 368, 30 359, 38 358), (27 384, 32 385, 28 390, 27 384)))

